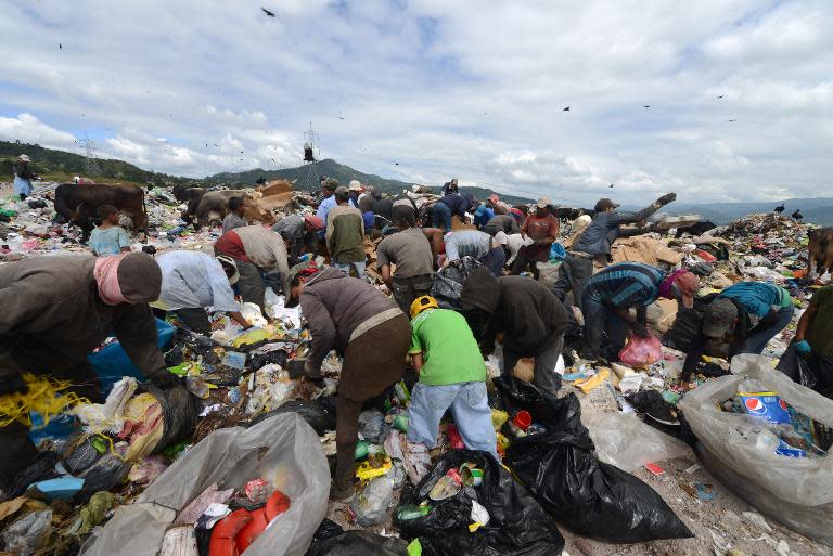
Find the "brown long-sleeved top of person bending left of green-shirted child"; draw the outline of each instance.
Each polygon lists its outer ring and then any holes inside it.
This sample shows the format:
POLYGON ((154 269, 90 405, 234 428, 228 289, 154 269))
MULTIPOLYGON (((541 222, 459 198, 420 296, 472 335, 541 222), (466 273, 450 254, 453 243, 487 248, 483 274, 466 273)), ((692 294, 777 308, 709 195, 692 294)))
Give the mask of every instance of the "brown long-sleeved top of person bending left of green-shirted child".
POLYGON ((402 311, 363 280, 330 268, 312 276, 300 294, 300 309, 309 322, 309 361, 319 366, 331 349, 344 354, 347 344, 402 311))

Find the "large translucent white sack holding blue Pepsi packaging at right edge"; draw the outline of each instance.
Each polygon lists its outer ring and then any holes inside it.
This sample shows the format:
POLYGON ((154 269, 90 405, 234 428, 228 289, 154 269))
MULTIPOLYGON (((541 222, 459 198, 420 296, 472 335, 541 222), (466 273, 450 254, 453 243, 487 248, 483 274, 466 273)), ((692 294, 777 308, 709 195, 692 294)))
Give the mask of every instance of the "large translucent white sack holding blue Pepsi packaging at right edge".
POLYGON ((731 371, 730 376, 701 385, 678 404, 703 445, 701 458, 761 513, 833 545, 833 456, 795 458, 758 450, 738 431, 758 422, 716 406, 734 395, 744 375, 826 426, 833 426, 833 400, 793 383, 765 357, 736 355, 731 371))

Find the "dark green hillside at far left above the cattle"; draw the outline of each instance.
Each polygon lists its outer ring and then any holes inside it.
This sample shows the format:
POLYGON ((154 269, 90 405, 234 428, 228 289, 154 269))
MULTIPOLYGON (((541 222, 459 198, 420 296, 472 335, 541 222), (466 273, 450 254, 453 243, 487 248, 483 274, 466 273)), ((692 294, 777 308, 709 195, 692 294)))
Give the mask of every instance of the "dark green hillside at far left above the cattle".
MULTIPOLYGON (((87 158, 75 153, 46 148, 38 144, 0 141, 0 176, 2 180, 9 180, 12 176, 12 165, 21 154, 29 155, 33 171, 43 179, 62 181, 69 180, 73 176, 87 176, 87 158)), ((166 173, 156 173, 142 170, 124 160, 97 158, 95 163, 101 169, 100 176, 89 176, 99 181, 121 181, 144 185, 148 181, 154 184, 174 185, 176 183, 190 183, 193 180, 178 178, 166 173)))

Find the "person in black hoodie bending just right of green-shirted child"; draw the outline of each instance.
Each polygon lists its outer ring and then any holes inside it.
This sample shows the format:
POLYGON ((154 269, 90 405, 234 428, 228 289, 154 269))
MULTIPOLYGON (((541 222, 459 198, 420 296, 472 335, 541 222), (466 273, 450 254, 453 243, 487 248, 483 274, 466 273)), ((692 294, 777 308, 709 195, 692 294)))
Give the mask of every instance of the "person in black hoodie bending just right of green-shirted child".
POLYGON ((554 368, 569 315, 552 292, 535 280, 495 277, 480 268, 463 283, 460 301, 484 355, 491 353, 498 334, 503 335, 504 375, 511 376, 522 358, 535 358, 536 386, 551 393, 561 388, 554 368))

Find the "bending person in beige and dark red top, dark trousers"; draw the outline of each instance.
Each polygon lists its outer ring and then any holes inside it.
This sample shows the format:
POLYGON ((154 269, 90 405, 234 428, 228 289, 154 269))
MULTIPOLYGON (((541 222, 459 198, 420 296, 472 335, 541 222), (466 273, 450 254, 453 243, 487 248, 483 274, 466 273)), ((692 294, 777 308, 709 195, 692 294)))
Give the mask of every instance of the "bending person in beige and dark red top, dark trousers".
POLYGON ((278 272, 281 280, 286 280, 290 274, 283 238, 261 225, 245 225, 226 232, 214 244, 214 253, 234 259, 240 272, 240 297, 244 302, 255 303, 261 312, 266 283, 260 272, 278 272))

